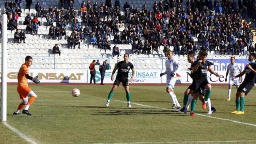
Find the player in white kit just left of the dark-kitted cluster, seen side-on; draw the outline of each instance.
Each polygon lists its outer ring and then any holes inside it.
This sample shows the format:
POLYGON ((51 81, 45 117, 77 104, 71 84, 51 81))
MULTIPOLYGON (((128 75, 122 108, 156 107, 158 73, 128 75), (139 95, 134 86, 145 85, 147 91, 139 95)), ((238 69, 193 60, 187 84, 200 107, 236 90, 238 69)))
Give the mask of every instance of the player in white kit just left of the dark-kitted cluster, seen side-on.
POLYGON ((172 51, 167 53, 167 60, 165 61, 166 71, 161 73, 160 76, 166 76, 166 91, 168 92, 170 98, 173 101, 172 109, 180 109, 181 105, 179 104, 176 95, 174 94, 174 85, 176 82, 175 73, 179 69, 180 63, 178 63, 175 59, 172 58, 172 51))

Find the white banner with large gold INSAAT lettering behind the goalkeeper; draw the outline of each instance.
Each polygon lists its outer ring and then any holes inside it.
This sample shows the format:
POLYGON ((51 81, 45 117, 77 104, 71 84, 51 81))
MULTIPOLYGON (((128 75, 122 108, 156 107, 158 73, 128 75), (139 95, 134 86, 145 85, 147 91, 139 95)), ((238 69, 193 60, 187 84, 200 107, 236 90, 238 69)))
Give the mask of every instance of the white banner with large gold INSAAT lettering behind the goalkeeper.
MULTIPOLYGON (((19 69, 7 70, 7 82, 18 82, 19 69)), ((29 69, 29 75, 38 75, 41 83, 86 83, 87 70, 29 69)), ((1 75, 2 76, 2 75, 1 75)), ((29 82, 30 80, 28 80, 29 82)))

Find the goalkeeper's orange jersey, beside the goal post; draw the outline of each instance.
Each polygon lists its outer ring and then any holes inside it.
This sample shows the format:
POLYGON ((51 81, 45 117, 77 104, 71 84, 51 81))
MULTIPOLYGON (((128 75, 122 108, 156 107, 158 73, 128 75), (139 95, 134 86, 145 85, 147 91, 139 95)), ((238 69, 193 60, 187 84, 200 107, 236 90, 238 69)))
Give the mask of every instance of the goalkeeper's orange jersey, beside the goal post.
POLYGON ((19 69, 18 87, 28 86, 28 79, 26 78, 27 74, 28 74, 28 66, 24 63, 19 69))

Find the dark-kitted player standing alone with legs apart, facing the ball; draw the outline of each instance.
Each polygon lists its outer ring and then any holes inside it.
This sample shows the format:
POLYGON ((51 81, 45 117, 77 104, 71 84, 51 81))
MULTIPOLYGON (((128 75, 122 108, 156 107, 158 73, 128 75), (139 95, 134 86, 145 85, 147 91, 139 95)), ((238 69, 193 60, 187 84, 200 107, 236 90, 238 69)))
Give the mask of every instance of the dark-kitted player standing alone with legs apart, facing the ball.
POLYGON ((128 102, 127 106, 131 107, 131 103, 130 103, 131 95, 130 95, 130 91, 129 91, 129 82, 130 83, 132 82, 132 79, 135 75, 135 70, 133 68, 133 64, 130 63, 128 60, 129 60, 129 54, 124 54, 124 60, 118 62, 112 72, 111 81, 114 80, 115 71, 118 69, 116 80, 113 84, 111 91, 109 92, 109 97, 108 97, 108 101, 106 102, 106 107, 109 106, 109 102, 114 95, 114 91, 116 90, 116 88, 119 86, 120 83, 122 83, 123 87, 125 88, 126 99, 128 102), (132 71, 132 75, 131 75, 130 80, 128 81, 128 74, 129 74, 130 69, 132 71))

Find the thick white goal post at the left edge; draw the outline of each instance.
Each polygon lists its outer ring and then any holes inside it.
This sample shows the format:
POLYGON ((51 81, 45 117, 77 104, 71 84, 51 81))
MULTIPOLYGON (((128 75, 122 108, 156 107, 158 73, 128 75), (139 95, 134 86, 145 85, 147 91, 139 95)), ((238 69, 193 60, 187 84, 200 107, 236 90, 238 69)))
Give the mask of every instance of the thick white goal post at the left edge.
POLYGON ((1 120, 7 120, 7 15, 2 17, 1 120))

